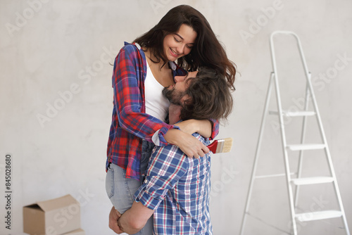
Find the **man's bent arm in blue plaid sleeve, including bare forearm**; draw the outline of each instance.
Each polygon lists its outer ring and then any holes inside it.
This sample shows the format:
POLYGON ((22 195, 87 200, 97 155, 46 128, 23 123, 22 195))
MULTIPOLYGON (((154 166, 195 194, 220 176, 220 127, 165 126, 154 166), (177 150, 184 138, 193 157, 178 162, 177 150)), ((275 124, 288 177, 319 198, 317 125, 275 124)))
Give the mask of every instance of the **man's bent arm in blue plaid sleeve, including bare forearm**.
POLYGON ((118 220, 122 231, 135 234, 144 227, 166 193, 187 172, 188 160, 184 161, 186 158, 177 146, 157 148, 151 156, 146 179, 134 194, 136 201, 118 220))

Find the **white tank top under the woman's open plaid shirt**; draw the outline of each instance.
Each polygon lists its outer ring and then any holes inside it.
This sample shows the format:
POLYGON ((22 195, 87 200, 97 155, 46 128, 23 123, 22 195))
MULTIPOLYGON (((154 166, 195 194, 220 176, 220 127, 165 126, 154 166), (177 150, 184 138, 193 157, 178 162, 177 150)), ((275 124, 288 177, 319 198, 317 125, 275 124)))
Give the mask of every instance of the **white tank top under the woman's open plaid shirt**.
POLYGON ((146 67, 146 80, 144 81, 146 113, 165 122, 170 102, 163 96, 164 87, 156 81, 148 63, 146 63, 146 67))

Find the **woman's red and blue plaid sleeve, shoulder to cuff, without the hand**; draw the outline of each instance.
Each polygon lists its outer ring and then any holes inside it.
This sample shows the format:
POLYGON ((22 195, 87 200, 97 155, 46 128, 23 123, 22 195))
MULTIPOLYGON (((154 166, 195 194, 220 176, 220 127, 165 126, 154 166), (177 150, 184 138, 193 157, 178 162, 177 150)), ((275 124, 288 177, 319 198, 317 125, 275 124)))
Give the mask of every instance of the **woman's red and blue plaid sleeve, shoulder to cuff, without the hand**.
MULTIPOLYGON (((143 54, 144 55, 144 54, 143 54)), ((142 53, 136 46, 129 44, 120 50, 115 59, 113 72, 114 104, 118 116, 118 125, 127 132, 138 136, 141 139, 152 141, 152 136, 158 130, 160 145, 167 143, 163 134, 168 129, 175 128, 168 125, 142 110, 144 103, 143 92, 143 63, 145 61, 142 53)))

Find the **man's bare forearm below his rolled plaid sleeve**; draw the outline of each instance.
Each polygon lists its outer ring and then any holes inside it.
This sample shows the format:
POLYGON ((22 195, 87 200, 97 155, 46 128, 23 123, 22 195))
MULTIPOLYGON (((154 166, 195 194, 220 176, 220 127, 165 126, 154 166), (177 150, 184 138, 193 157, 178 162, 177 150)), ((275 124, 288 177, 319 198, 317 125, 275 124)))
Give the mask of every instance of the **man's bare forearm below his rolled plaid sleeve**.
POLYGON ((136 234, 143 229, 153 212, 154 210, 147 208, 142 203, 134 201, 132 208, 126 210, 118 219, 118 226, 127 234, 136 234))

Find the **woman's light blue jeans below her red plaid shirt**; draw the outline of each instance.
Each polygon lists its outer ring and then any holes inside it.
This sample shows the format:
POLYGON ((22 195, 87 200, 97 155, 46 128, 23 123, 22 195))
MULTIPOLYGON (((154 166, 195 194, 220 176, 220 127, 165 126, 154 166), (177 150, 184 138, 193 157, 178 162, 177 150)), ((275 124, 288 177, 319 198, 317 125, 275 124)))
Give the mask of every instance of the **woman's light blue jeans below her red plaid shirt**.
MULTIPOLYGON (((148 167, 149 158, 154 145, 148 141, 143 141, 142 158, 141 158, 141 174, 144 175, 146 167, 148 167)), ((121 214, 132 207, 134 202, 133 195, 142 185, 144 177, 140 180, 127 179, 126 170, 113 163, 108 167, 106 173, 106 193, 116 210, 121 214)), ((153 234, 153 216, 149 218, 144 228, 137 233, 138 235, 153 234)))

